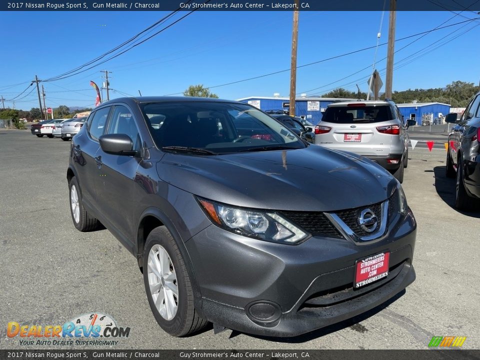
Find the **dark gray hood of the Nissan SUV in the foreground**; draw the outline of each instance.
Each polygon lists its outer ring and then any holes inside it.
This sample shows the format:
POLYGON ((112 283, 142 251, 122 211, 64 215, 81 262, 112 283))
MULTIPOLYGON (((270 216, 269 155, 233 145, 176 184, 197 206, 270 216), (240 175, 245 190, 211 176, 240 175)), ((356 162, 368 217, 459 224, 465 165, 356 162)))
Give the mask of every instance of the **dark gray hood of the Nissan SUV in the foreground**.
POLYGON ((165 153, 159 177, 182 190, 231 205, 331 211, 387 199, 396 180, 379 165, 320 146, 224 155, 165 153))

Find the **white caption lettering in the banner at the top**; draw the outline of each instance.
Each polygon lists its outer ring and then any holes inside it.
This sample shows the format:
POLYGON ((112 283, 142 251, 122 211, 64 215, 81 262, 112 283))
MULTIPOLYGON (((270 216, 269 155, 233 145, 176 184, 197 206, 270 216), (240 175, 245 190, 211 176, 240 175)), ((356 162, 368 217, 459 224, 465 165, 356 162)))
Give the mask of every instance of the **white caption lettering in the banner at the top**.
MULTIPOLYGON (((298 9, 309 8, 308 2, 296 3, 279 3, 279 2, 221 2, 221 3, 204 3, 204 2, 181 2, 182 9, 298 9)), ((49 9, 49 10, 70 10, 70 9, 146 9, 146 8, 162 8, 164 4, 160 2, 8 2, 7 8, 12 9, 49 9)))

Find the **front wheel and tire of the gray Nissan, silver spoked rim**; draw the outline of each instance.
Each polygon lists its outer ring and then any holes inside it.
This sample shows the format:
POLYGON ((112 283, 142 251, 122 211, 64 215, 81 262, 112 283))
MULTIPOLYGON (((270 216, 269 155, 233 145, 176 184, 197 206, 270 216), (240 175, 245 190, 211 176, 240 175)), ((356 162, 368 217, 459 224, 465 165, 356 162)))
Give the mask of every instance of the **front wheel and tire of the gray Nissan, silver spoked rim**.
POLYGON ((164 226, 155 227, 148 234, 144 254, 143 282, 146 296, 151 312, 160 327, 172 336, 189 335, 205 327, 208 321, 196 314, 193 305, 193 290, 183 257, 175 240, 164 226), (161 266, 161 254, 163 263, 168 261, 167 267, 161 266), (161 276, 161 280, 154 272, 161 276), (176 288, 176 294, 170 286, 176 288), (169 301, 165 301, 165 298, 169 301), (159 301, 158 307, 155 300, 159 301), (173 306, 167 306, 167 302, 173 306))

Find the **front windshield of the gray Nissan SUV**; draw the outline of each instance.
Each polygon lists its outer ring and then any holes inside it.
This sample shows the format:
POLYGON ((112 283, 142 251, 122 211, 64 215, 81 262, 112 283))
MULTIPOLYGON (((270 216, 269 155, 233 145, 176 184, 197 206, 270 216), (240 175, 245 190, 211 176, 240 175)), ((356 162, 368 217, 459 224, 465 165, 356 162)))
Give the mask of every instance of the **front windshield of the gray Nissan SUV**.
POLYGON ((148 102, 140 106, 158 148, 232 153, 294 149, 304 143, 287 127, 248 104, 230 102, 148 102))

